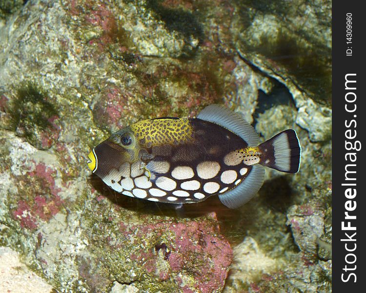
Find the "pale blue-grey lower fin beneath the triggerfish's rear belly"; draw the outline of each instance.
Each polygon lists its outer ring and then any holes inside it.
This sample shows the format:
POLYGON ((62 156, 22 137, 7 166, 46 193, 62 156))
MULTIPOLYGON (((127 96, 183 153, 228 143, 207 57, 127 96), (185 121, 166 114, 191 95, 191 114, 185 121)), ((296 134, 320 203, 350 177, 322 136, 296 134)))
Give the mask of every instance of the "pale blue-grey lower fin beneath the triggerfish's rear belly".
POLYGON ((219 194, 220 201, 230 209, 236 209, 244 205, 262 187, 264 182, 264 167, 253 165, 245 179, 235 188, 223 194, 219 194))

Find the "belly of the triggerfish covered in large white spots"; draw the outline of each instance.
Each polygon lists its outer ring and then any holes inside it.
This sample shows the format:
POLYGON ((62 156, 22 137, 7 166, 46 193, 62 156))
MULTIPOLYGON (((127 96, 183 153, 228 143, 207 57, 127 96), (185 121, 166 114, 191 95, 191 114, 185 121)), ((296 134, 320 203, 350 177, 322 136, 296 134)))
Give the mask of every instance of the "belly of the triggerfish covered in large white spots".
POLYGON ((248 165, 226 165, 224 160, 202 161, 195 166, 124 163, 112 169, 104 182, 123 195, 152 202, 194 203, 235 188, 250 171, 248 165), (152 174, 150 176, 150 174, 152 174))

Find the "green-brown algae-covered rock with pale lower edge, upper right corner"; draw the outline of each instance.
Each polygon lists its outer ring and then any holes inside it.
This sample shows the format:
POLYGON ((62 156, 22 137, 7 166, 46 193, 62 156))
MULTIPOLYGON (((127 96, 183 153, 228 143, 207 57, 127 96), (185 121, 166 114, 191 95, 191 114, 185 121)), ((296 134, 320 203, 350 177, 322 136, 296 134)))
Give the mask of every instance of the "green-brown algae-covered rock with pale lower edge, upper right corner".
POLYGON ((311 141, 325 142, 331 133, 331 1, 293 4, 241 1, 232 33, 244 62, 288 88, 299 109, 296 123, 311 141))

